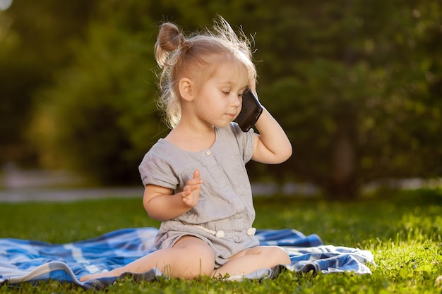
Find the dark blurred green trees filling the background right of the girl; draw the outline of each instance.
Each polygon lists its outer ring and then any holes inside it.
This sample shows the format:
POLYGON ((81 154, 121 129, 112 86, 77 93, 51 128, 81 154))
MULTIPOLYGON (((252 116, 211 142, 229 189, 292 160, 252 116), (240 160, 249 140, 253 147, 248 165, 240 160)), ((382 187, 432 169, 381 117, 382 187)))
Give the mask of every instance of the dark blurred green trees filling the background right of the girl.
POLYGON ((261 99, 277 97, 294 145, 277 178, 349 199, 370 180, 441 175, 441 4, 399 2, 301 1, 258 27, 261 99))

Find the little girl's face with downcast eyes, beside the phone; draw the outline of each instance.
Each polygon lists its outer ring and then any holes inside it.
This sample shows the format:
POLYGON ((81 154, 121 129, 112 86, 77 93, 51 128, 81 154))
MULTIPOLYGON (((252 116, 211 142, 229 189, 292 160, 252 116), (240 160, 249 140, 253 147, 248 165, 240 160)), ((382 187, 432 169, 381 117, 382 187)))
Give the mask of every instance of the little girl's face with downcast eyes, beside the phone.
POLYGON ((195 101, 196 114, 209 125, 226 127, 241 111, 249 76, 239 63, 225 62, 205 82, 195 101))

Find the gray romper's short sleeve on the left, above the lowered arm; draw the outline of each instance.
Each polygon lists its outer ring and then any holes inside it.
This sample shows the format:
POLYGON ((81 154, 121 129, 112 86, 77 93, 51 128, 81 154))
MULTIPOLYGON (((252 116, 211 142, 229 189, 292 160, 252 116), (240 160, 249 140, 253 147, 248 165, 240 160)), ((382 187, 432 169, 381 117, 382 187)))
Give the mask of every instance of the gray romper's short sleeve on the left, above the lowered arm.
POLYGON ((179 180, 167 158, 167 152, 158 145, 154 145, 145 154, 143 161, 138 166, 144 186, 159 185, 172 190, 177 188, 179 180))

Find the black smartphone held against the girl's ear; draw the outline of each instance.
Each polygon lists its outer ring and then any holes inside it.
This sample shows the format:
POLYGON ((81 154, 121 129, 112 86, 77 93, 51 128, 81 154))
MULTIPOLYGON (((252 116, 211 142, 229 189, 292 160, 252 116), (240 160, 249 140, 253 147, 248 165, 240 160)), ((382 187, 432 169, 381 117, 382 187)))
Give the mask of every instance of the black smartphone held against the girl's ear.
POLYGON ((242 107, 237 119, 239 128, 243 132, 248 132, 250 128, 258 121, 259 116, 263 113, 263 106, 259 103, 255 94, 249 89, 242 94, 242 107))

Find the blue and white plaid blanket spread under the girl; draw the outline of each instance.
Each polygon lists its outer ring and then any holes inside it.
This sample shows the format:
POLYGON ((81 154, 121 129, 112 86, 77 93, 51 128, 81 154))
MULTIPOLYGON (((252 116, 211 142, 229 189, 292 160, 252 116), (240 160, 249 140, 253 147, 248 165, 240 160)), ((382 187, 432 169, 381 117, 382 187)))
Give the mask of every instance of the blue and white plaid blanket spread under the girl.
MULTIPOLYGON (((100 237, 67 244, 49 244, 32 240, 0 239, 0 285, 39 283, 56 280, 74 283, 85 289, 105 288, 118 277, 79 281, 80 276, 109 271, 128 264, 155 250, 153 240, 157 228, 126 228, 100 237)), ((296 230, 258 230, 261 245, 279 245, 292 260, 291 266, 260 269, 239 278, 273 278, 282 270, 297 272, 352 271, 371 274, 366 264, 374 263, 366 250, 323 245, 316 234, 304 235, 296 230)), ((155 280, 162 273, 157 269, 132 275, 135 280, 155 280)), ((121 278, 121 277, 120 277, 121 278)))

